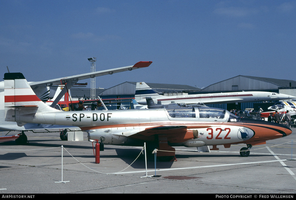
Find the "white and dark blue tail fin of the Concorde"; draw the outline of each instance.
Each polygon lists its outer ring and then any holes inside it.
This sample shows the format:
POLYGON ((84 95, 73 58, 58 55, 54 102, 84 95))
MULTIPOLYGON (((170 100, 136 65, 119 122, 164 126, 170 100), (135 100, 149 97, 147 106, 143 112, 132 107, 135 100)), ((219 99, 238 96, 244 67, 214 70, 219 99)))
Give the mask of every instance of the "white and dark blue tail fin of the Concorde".
MULTIPOLYGON (((135 100, 140 103, 140 101, 146 101, 145 97, 162 97, 163 95, 158 94, 156 91, 152 90, 145 82, 137 82, 135 100)), ((141 104, 141 103, 140 103, 141 104)))

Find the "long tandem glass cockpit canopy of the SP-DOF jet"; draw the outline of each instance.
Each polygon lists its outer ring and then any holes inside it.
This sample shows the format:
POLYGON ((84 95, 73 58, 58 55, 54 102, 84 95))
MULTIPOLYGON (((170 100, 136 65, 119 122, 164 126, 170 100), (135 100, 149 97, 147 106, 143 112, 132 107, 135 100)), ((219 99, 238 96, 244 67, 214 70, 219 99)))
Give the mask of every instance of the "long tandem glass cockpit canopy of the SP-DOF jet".
POLYGON ((215 122, 238 122, 240 118, 227 110, 220 108, 181 108, 166 109, 170 120, 184 121, 215 121, 215 122))

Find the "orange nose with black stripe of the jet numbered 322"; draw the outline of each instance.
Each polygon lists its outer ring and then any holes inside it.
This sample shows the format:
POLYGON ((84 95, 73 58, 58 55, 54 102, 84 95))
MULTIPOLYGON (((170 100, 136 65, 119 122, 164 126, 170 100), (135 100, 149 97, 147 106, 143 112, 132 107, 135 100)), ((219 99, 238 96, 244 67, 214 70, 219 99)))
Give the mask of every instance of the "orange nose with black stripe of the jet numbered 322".
POLYGON ((266 140, 285 137, 292 133, 287 126, 275 122, 248 118, 242 118, 242 122, 244 125, 249 125, 255 131, 255 135, 262 136, 266 140))

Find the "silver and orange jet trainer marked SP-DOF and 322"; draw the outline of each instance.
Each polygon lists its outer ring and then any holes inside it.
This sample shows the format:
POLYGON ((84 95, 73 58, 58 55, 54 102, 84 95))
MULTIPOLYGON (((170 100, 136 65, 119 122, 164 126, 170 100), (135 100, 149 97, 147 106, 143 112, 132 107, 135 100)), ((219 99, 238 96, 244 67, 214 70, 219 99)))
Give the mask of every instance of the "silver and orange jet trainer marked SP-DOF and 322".
POLYGON ((35 95, 22 73, 4 74, 6 121, 78 126, 89 140, 104 137, 104 144, 157 148, 157 157, 172 158, 171 146, 202 147, 245 143, 242 156, 252 145, 282 138, 291 129, 273 122, 239 118, 227 110, 194 107, 189 109, 57 111, 35 95))

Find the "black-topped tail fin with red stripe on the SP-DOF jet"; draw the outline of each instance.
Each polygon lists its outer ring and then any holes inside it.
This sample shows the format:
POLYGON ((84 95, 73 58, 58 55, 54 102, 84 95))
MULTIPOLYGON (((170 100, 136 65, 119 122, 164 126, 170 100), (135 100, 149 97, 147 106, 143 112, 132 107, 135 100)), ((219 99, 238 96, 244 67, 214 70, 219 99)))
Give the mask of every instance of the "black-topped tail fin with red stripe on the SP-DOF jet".
MULTIPOLYGON (((19 122, 33 118, 37 112, 57 111, 42 102, 33 92, 22 73, 4 74, 5 121, 19 122)), ((18 123, 19 126, 24 123, 18 123)))

